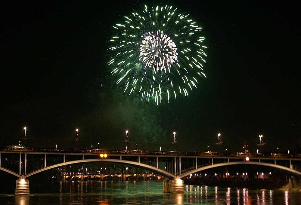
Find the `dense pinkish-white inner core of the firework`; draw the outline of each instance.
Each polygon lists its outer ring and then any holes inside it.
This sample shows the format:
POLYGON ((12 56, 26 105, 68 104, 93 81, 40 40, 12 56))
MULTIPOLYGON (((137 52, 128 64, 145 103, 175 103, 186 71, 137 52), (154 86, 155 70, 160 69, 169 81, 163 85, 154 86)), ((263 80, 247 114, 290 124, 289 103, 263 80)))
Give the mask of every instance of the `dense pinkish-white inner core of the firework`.
POLYGON ((145 68, 153 69, 153 72, 170 68, 177 61, 177 46, 172 39, 166 35, 157 32, 156 35, 150 32, 145 36, 139 48, 139 60, 145 65, 145 68))

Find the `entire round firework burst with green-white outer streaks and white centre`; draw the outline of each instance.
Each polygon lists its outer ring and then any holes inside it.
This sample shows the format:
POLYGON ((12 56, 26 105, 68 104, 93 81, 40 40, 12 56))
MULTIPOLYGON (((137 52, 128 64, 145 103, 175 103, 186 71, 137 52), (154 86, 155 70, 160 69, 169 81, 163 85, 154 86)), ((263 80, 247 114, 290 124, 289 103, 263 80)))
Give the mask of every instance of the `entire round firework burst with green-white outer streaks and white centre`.
POLYGON ((157 104, 188 96, 206 77, 205 38, 201 27, 172 6, 143 8, 113 26, 108 62, 117 88, 157 104))

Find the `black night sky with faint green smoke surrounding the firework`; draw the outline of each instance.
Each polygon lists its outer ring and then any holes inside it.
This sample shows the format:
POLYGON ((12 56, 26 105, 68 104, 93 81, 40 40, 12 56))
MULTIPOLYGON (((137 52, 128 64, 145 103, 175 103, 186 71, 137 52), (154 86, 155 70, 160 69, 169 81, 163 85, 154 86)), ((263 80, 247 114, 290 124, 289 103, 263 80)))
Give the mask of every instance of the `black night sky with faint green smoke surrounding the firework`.
MULTIPOLYGON (((169 1, 203 27, 198 89, 159 107, 105 89, 114 24, 136 1, 1 1, 0 145, 231 152, 300 144, 300 3, 169 1), (103 87, 101 87, 101 84, 103 87)), ((143 1, 141 1, 143 3, 143 1)), ((151 6, 150 4, 148 4, 151 6)))

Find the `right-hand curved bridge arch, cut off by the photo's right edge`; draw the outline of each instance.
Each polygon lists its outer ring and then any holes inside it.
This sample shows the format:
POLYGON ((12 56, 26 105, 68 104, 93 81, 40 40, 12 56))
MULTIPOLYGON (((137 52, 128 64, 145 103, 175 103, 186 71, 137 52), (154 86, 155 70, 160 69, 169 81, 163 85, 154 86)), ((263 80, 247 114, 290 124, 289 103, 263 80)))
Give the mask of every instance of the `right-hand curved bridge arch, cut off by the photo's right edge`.
POLYGON ((179 178, 183 178, 185 176, 188 176, 190 174, 199 172, 199 171, 203 171, 203 170, 207 170, 207 169, 211 169, 211 168, 215 168, 215 167, 222 167, 222 166, 227 166, 227 165, 237 165, 237 164, 252 164, 252 165, 260 165, 260 166, 267 166, 267 167, 273 167, 273 168, 277 168, 277 169, 282 169, 282 170, 286 170, 292 174, 295 174, 299 177, 301 177, 301 172, 290 169, 288 167, 284 167, 284 166, 280 166, 277 164, 270 164, 270 163, 265 163, 265 162, 257 162, 257 161, 232 161, 232 162, 224 162, 224 163, 218 163, 218 164, 212 164, 212 165, 208 165, 208 166, 204 166, 204 167, 200 167, 198 169, 194 169, 194 170, 189 170, 185 173, 182 173, 179 178))

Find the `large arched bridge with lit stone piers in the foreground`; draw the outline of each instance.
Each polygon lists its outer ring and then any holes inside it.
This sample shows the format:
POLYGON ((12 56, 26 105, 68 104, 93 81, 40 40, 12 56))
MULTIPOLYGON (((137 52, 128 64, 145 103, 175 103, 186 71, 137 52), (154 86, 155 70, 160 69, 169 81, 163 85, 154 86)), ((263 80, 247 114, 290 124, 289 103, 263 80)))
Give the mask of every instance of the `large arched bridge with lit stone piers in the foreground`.
MULTIPOLYGON (((0 151, 0 170, 19 178, 16 182, 16 195, 29 194, 29 179, 26 179, 29 176, 57 167, 86 162, 127 164, 150 170, 165 177, 163 192, 171 193, 184 192, 182 180, 184 177, 230 165, 265 166, 301 178, 301 158, 298 155, 26 148, 0 151)), ((81 176, 82 179, 88 177, 88 174, 84 172, 78 172, 76 175, 81 176)), ((107 176, 107 173, 99 171, 100 179, 107 176)), ((143 175, 144 179, 149 176, 143 175)), ((123 172, 117 177, 126 180, 129 175, 123 172)))

